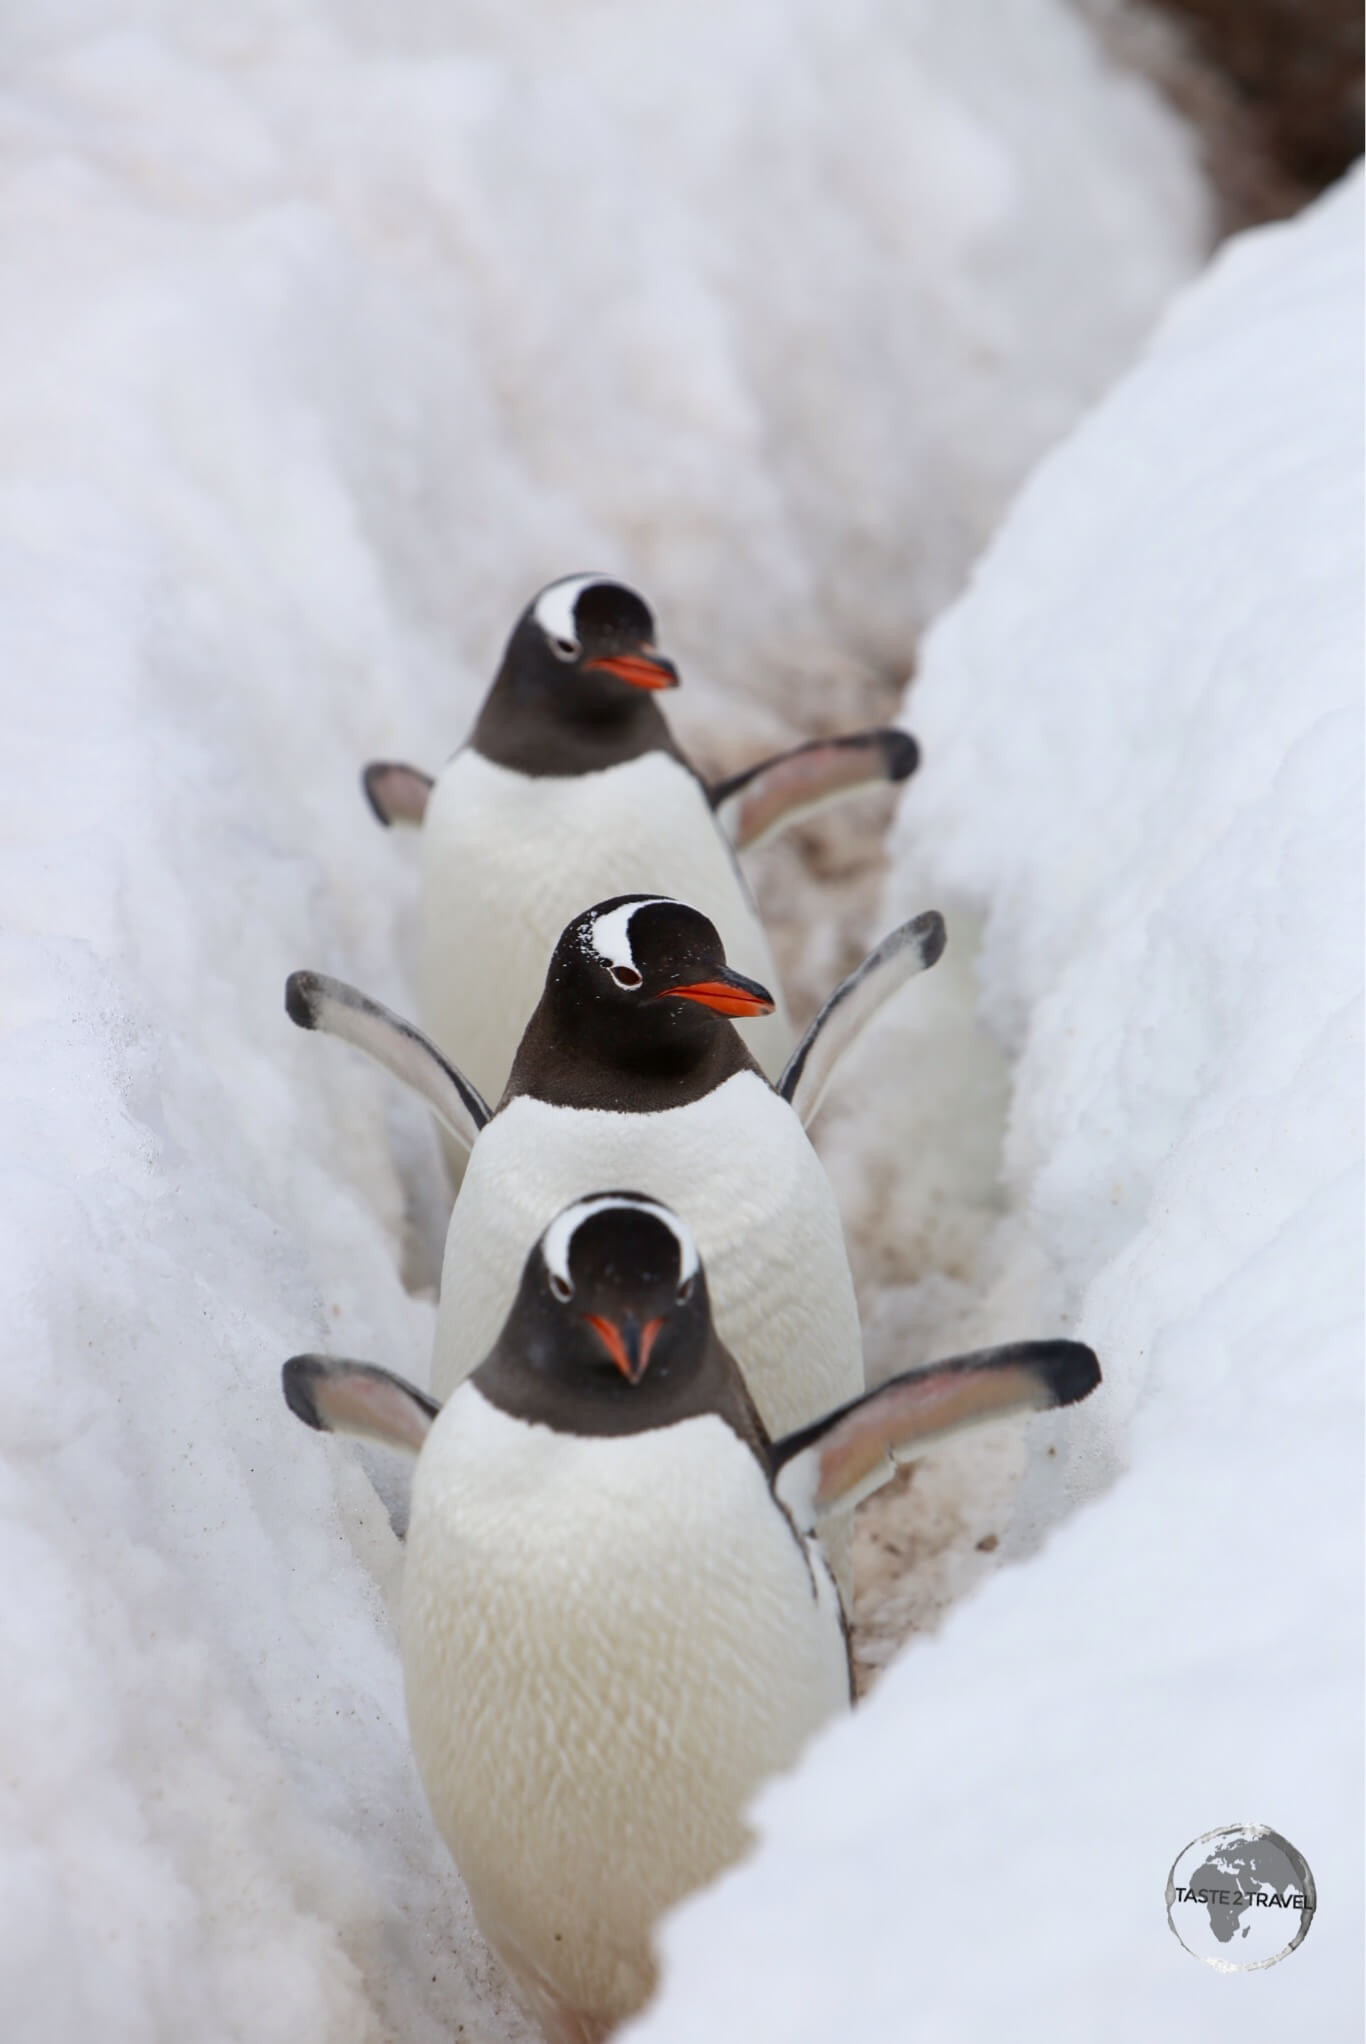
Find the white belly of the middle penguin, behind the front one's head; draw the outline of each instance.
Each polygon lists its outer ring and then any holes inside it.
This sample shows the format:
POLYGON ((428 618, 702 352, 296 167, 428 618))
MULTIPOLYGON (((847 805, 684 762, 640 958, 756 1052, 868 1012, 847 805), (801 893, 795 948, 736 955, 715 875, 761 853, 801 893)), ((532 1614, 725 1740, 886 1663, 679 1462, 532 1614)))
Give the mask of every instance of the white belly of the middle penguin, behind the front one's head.
POLYGON ((528 1249, 589 1192, 646 1192, 697 1239, 716 1331, 773 1437, 863 1390, 834 1192, 798 1116, 753 1071, 658 1114, 521 1096, 481 1132, 450 1216, 431 1390, 497 1341, 528 1249))

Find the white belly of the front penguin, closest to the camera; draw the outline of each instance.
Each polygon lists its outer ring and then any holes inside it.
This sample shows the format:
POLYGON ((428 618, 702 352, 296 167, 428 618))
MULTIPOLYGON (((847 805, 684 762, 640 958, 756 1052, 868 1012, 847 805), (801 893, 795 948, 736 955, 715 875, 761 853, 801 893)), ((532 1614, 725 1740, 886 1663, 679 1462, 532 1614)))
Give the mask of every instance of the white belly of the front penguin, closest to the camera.
POLYGON ((724 1421, 581 1439, 472 1384, 417 1466, 403 1672, 481 1927, 564 2036, 648 1997, 658 1915, 849 1705, 830 1580, 724 1421))

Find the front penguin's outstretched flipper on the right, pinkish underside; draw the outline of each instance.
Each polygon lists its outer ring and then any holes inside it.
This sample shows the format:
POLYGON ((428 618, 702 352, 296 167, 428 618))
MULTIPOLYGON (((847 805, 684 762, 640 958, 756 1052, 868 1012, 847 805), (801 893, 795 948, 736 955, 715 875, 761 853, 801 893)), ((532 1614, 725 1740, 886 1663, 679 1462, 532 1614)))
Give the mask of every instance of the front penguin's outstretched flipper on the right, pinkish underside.
POLYGON ((802 1531, 847 1513, 887 1482, 898 1464, 955 1433, 1012 1412, 1076 1404, 1100 1384, 1100 1363, 1080 1341, 1012 1341, 922 1369, 773 1443, 773 1490, 802 1531))

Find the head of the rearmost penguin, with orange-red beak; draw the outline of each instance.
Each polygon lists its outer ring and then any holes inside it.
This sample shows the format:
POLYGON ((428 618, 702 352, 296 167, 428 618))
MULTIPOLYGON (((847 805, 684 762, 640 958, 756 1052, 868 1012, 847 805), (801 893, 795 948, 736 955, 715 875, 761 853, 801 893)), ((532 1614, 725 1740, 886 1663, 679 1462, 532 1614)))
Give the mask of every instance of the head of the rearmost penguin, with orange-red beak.
POLYGON ((654 648, 648 603, 605 574, 568 574, 536 595, 513 630, 503 677, 519 695, 585 724, 628 715, 644 695, 677 689, 654 648))

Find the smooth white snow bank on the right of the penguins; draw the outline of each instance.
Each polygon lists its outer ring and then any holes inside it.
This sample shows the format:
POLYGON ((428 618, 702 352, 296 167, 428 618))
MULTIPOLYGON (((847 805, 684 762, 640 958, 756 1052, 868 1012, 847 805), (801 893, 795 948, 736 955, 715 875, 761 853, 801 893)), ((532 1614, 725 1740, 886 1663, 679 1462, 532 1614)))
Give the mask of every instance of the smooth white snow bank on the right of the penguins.
POLYGON ((1127 1474, 765 1793, 640 2044, 1360 2036, 1360 245, 1221 256, 930 636, 894 899, 986 910, 998 1284, 1108 1380, 1024 1517, 1127 1474), (1243 1819, 1319 1915, 1231 1979, 1164 1885, 1243 1819))

